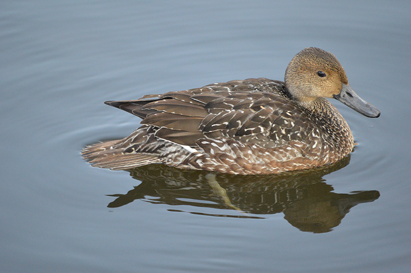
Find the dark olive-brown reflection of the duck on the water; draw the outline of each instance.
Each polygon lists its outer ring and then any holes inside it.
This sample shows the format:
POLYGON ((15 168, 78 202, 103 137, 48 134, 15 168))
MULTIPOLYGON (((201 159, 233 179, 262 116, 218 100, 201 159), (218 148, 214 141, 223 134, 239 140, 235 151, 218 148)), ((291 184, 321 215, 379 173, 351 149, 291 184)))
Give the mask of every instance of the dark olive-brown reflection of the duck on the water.
POLYGON ((250 176, 229 174, 219 174, 215 179, 210 179, 210 173, 203 171, 179 170, 162 165, 143 166, 130 171, 133 178, 142 183, 126 194, 110 195, 117 199, 108 207, 120 207, 141 199, 154 204, 234 208, 246 212, 191 212, 209 216, 261 218, 264 214, 284 212, 284 218, 302 231, 326 232, 339 225, 351 207, 372 202, 380 195, 375 190, 350 194, 331 192, 333 188, 324 183, 323 176, 346 166, 348 162, 347 157, 327 168, 257 175, 252 179, 250 176))

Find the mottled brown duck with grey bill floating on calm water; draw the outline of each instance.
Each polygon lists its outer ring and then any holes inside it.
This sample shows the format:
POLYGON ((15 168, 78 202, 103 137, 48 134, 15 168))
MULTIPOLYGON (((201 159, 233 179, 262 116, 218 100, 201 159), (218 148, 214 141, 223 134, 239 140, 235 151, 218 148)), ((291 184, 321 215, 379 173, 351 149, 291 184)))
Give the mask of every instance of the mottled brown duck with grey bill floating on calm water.
POLYGON ((85 147, 92 166, 129 170, 148 164, 238 175, 277 174, 336 163, 353 150, 352 132, 328 99, 369 118, 380 111, 348 84, 332 53, 298 52, 284 82, 266 78, 107 101, 142 119, 121 140, 85 147))

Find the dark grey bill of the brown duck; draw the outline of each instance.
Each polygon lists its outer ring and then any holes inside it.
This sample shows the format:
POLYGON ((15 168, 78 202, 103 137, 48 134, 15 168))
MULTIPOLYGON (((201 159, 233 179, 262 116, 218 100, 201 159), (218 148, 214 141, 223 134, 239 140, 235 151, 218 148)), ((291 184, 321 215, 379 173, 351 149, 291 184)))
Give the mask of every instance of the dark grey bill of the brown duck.
POLYGON ((359 95, 357 95, 354 90, 352 90, 351 86, 343 84, 343 88, 341 88, 341 92, 338 95, 333 95, 335 100, 342 102, 343 104, 347 105, 349 108, 352 108, 363 114, 368 116, 368 118, 378 118, 380 116, 380 111, 372 106, 371 104, 367 103, 359 95))

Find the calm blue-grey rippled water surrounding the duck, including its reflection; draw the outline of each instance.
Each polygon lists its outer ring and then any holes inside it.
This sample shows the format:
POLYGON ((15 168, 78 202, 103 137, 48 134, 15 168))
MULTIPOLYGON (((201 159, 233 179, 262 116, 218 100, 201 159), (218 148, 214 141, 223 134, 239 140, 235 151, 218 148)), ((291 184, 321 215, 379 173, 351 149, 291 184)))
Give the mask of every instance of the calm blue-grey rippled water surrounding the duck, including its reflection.
POLYGON ((3 1, 1 272, 410 272, 411 2, 3 1), (103 104, 334 53, 368 119, 323 170, 277 177, 92 168, 139 119, 103 104), (225 189, 223 193, 221 189, 225 189))

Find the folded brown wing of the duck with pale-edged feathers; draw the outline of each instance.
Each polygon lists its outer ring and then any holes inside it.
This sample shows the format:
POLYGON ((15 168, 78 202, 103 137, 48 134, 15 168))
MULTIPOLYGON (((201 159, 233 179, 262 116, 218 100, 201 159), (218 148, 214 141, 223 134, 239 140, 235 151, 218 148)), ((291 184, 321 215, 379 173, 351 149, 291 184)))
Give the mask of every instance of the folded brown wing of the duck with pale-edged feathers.
POLYGON ((156 127, 157 138, 191 147, 203 138, 275 146, 287 139, 284 135, 296 138, 293 119, 304 114, 286 97, 283 82, 264 78, 105 103, 139 116, 143 125, 156 127))

